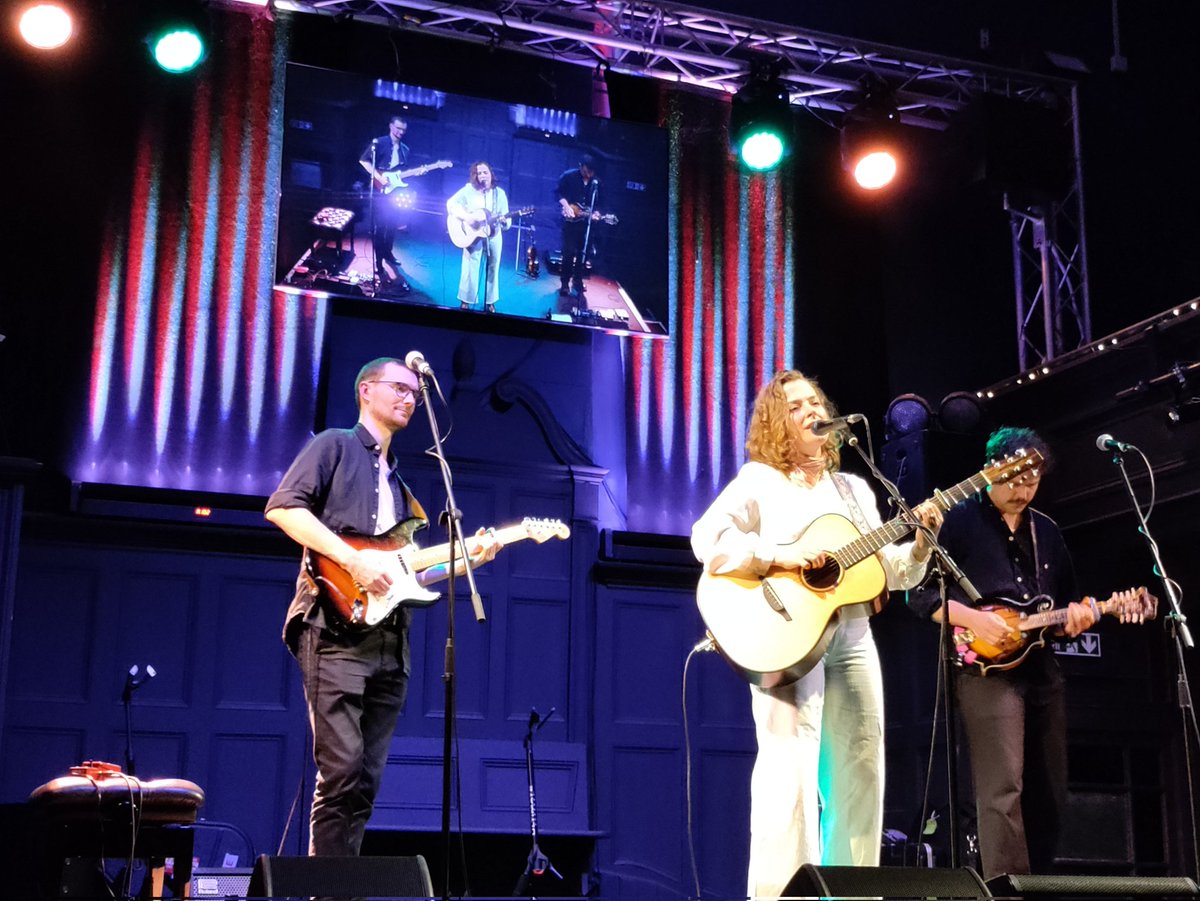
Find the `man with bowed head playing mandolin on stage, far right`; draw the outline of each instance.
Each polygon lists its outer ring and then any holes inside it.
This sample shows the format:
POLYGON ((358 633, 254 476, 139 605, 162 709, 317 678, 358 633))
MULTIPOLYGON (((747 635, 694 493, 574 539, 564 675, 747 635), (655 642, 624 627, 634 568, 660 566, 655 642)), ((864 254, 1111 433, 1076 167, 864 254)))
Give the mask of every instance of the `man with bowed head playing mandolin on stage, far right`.
MULTIPOLYGON (((1018 450, 1040 453, 1040 469, 955 506, 946 515, 941 543, 984 596, 984 606, 1007 599, 1024 608, 1050 599, 1067 608, 1062 631, 1074 637, 1096 621, 1096 607, 1074 600, 1075 570, 1062 533, 1031 506, 1052 463, 1050 448, 1030 428, 1006 426, 989 437, 984 456, 994 463, 1018 450)), ((947 591, 952 625, 994 647, 1004 643, 1012 626, 998 613, 972 606, 956 584, 947 591)), ((942 620, 934 589, 912 593, 910 606, 942 620)), ((1058 661, 1049 648, 1036 648, 1012 669, 984 675, 966 666, 955 677, 984 878, 1049 872, 1067 803, 1067 701, 1058 661)))

